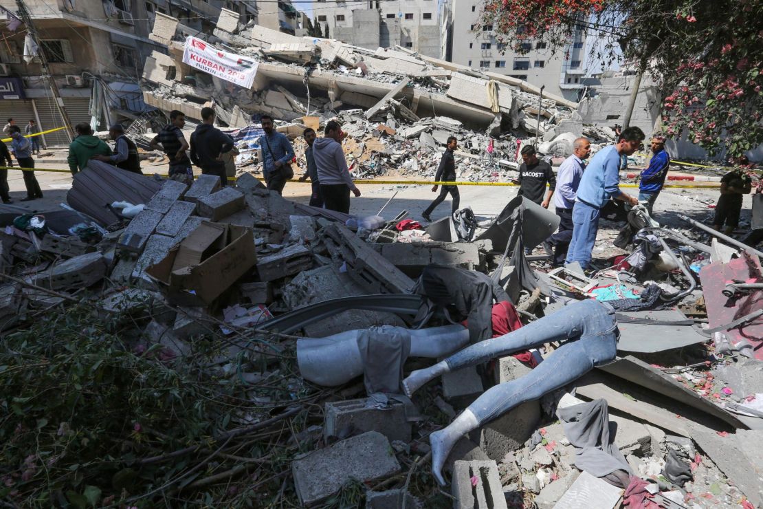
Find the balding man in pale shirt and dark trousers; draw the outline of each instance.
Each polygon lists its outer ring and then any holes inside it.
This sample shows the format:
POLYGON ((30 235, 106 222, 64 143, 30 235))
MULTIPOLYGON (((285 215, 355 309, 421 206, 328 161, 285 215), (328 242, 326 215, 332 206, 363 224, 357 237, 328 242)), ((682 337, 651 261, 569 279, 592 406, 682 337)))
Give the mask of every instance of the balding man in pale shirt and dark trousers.
POLYGON ((588 138, 578 138, 572 146, 572 155, 564 160, 559 166, 559 176, 556 179, 556 192, 554 193, 554 208, 559 216, 559 230, 556 231, 548 243, 554 246, 554 259, 552 265, 559 267, 564 265, 567 257, 570 240, 572 240, 572 208, 578 194, 578 186, 585 169, 585 159, 591 155, 591 142, 588 138))

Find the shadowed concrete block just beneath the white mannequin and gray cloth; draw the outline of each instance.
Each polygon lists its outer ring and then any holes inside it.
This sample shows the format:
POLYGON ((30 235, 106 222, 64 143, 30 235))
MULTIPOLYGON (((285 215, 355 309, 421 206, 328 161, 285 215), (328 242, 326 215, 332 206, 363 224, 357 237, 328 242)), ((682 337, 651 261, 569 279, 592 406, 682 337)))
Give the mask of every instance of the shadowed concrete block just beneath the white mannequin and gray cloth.
POLYGON ((391 409, 365 406, 365 398, 327 403, 324 408, 324 438, 346 437, 347 433, 378 431, 390 441, 410 442, 410 423, 402 403, 391 402, 391 409))

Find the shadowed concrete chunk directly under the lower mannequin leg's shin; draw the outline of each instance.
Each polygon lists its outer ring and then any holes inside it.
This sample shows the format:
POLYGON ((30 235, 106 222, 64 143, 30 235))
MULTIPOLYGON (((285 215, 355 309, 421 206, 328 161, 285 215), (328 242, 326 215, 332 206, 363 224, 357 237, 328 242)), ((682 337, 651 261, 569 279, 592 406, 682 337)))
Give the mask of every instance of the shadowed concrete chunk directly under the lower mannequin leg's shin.
POLYGON ((526 401, 472 432, 488 458, 500 461, 509 451, 521 449, 535 432, 540 419, 538 401, 526 401))

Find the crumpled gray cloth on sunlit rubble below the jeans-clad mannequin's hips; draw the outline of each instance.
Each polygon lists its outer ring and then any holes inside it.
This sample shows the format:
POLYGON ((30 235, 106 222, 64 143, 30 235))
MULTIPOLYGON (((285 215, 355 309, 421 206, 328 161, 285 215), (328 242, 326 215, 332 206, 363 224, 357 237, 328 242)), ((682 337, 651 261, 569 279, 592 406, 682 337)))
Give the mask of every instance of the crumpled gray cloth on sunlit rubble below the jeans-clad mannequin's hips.
POLYGON ((562 420, 567 440, 575 446, 575 466, 578 469, 596 477, 606 476, 610 482, 617 478, 617 475, 611 475, 617 470, 633 475, 623 453, 614 444, 617 424, 610 423, 606 400, 597 399, 559 408, 556 415, 562 420))

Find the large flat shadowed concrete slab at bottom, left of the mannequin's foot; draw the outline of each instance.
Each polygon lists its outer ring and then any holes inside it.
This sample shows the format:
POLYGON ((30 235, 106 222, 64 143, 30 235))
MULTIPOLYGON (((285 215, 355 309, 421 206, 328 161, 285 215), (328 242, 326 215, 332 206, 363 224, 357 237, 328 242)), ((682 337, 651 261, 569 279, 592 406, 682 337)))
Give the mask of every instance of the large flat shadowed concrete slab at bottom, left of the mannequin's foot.
POLYGON ((387 437, 376 431, 334 443, 291 462, 295 491, 303 505, 330 497, 350 479, 373 481, 400 472, 387 437))

